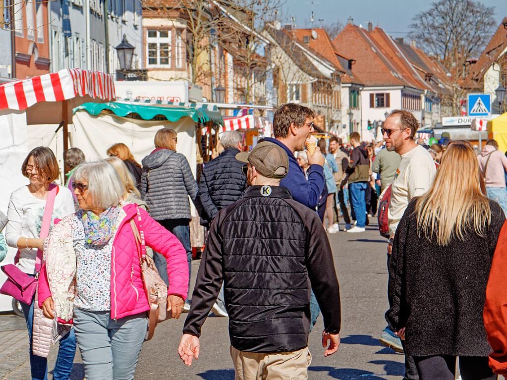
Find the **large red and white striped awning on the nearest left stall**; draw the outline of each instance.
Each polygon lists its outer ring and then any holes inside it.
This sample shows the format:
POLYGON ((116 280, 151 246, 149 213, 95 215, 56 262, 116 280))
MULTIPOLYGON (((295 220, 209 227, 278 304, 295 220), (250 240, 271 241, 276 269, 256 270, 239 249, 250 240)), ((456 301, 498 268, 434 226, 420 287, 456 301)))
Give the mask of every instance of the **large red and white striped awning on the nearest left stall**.
POLYGON ((0 109, 23 110, 38 102, 57 102, 85 95, 115 100, 113 75, 70 68, 5 83, 0 85, 0 109))

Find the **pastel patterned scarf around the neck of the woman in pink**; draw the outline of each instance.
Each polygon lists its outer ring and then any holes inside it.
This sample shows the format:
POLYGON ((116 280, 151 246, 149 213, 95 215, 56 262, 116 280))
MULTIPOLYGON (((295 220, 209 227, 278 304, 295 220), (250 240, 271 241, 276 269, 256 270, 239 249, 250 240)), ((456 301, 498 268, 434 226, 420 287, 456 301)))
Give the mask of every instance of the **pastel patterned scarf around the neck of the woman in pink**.
POLYGON ((120 209, 120 207, 110 207, 100 215, 96 215, 92 211, 80 211, 88 244, 103 247, 111 240, 116 232, 115 224, 120 209))

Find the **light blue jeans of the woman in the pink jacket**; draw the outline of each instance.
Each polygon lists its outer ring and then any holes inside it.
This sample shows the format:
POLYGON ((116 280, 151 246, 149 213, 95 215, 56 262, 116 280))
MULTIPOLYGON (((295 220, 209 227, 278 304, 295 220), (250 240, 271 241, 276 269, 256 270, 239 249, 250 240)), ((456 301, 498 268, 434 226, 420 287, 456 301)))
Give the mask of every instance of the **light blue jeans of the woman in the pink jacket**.
POLYGON ((148 327, 146 313, 114 320, 108 311, 74 308, 74 326, 87 380, 134 378, 148 327))

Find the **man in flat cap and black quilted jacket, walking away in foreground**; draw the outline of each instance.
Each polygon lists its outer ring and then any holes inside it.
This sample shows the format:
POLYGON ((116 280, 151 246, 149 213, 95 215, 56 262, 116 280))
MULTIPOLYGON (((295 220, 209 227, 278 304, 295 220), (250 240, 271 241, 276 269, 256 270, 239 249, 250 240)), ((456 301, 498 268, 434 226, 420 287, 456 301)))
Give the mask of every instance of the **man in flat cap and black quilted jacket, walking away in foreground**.
POLYGON ((201 327, 224 282, 235 379, 308 378, 310 288, 324 320, 324 356, 340 344, 340 292, 317 213, 280 186, 288 156, 272 142, 240 153, 250 185, 214 218, 178 347, 199 357, 201 327))

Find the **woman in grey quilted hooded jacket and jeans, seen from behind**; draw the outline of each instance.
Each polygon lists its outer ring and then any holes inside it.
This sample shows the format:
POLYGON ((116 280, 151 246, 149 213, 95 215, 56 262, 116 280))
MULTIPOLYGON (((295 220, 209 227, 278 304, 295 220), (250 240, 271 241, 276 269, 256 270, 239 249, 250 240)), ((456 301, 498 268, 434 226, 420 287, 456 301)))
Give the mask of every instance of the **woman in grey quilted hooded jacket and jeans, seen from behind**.
MULTIPOLYGON (((150 216, 172 232, 187 251, 189 273, 192 268, 190 247, 190 202, 196 202, 198 186, 187 158, 176 152, 177 134, 169 128, 155 134, 155 150, 142 159, 141 196, 150 216)), ((154 253, 160 277, 167 281, 165 260, 154 253)), ((185 303, 185 311, 190 303, 185 303)))

